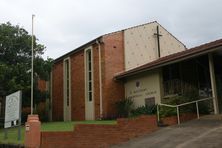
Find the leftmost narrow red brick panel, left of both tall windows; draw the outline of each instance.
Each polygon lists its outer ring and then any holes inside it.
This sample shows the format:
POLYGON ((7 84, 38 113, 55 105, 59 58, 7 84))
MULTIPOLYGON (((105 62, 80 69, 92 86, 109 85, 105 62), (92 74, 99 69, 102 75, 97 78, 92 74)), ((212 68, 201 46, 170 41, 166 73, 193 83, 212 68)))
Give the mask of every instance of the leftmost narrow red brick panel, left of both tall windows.
POLYGON ((52 69, 52 119, 63 120, 63 61, 52 69))

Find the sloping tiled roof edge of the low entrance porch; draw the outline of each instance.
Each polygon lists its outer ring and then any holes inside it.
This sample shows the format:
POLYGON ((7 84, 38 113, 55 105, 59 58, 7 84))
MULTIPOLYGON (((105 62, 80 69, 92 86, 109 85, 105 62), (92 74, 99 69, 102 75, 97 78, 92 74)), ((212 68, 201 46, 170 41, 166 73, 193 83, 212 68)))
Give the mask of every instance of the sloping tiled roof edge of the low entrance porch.
POLYGON ((190 59, 199 55, 213 52, 217 50, 218 48, 222 48, 222 39, 209 42, 209 43, 206 43, 206 44, 194 47, 194 48, 190 48, 188 50, 181 51, 175 54, 171 54, 165 57, 161 57, 155 61, 146 63, 144 65, 130 69, 128 71, 117 73, 114 76, 114 79, 116 80, 123 79, 125 77, 133 76, 141 72, 149 71, 149 70, 156 69, 165 65, 183 61, 185 59, 190 59))

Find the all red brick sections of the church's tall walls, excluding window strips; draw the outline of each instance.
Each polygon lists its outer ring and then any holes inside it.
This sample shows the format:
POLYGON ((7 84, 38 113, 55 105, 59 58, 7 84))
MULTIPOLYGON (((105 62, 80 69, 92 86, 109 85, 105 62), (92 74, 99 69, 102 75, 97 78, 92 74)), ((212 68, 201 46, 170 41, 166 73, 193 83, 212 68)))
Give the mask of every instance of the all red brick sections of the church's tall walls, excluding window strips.
MULTIPOLYGON (((105 35, 101 44, 102 93, 104 118, 116 115, 115 102, 124 98, 124 85, 115 82, 115 73, 124 70, 123 32, 105 35)), ((99 52, 93 44, 93 78, 95 119, 100 118, 99 52)), ((72 120, 85 119, 84 49, 71 55, 72 120)), ((52 81, 53 120, 63 120, 63 60, 53 66, 52 81)))

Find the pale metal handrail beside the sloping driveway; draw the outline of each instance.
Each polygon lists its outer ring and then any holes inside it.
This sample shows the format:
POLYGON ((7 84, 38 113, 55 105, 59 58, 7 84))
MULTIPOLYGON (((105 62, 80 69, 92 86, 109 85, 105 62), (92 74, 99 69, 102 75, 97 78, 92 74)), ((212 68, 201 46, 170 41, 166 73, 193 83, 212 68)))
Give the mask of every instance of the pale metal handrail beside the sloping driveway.
POLYGON ((186 103, 182 103, 182 104, 178 104, 178 105, 170 105, 170 104, 163 104, 163 103, 157 104, 157 119, 158 119, 158 122, 160 121, 159 106, 166 106, 166 107, 172 107, 172 108, 175 107, 175 108, 177 109, 177 124, 180 124, 179 107, 184 106, 184 105, 188 105, 188 104, 196 103, 197 119, 199 119, 199 118, 200 118, 200 115, 199 115, 198 102, 206 101, 206 100, 211 100, 211 99, 213 100, 214 98, 213 98, 213 97, 209 97, 209 98, 204 98, 204 99, 199 99, 199 100, 195 100, 195 101, 190 101, 190 102, 186 102, 186 103))

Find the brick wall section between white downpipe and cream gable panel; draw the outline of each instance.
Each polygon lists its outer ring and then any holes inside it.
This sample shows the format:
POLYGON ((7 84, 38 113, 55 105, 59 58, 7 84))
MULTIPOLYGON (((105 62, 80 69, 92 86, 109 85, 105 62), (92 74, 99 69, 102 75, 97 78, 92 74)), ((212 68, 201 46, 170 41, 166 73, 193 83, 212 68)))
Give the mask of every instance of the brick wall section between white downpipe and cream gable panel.
POLYGON ((103 112, 104 117, 116 116, 115 102, 125 97, 123 82, 116 82, 114 74, 124 70, 123 32, 103 37, 102 73, 103 73, 103 112))

